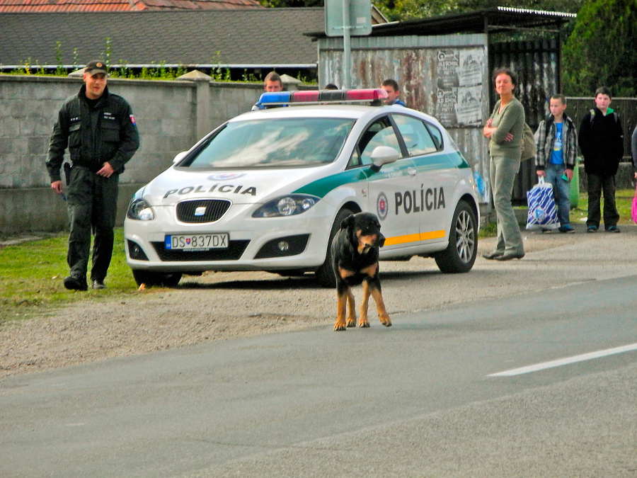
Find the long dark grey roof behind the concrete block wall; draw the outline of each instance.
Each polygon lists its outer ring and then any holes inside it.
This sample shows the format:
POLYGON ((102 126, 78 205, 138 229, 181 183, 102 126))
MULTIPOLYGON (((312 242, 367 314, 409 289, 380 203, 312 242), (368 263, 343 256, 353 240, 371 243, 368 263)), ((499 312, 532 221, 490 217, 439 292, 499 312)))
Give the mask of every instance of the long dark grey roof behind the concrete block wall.
POLYGON ((219 64, 284 67, 316 65, 316 43, 303 34, 323 30, 323 8, 0 15, 0 64, 56 65, 103 57, 110 63, 219 64), (285 28, 284 28, 285 27, 285 28))

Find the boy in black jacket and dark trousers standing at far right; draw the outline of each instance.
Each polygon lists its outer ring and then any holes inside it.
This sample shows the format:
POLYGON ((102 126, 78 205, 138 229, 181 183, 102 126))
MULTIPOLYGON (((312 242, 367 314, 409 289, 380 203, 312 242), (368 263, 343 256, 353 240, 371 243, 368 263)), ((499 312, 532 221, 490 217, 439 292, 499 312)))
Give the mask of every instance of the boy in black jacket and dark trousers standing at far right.
POLYGON ((604 228, 619 232, 619 213, 615 205, 615 174, 624 156, 624 131, 619 115, 609 108, 610 90, 604 86, 595 91, 592 108, 580 125, 579 143, 584 156, 584 171, 588 178, 587 232, 599 229, 600 199, 604 193, 604 228))

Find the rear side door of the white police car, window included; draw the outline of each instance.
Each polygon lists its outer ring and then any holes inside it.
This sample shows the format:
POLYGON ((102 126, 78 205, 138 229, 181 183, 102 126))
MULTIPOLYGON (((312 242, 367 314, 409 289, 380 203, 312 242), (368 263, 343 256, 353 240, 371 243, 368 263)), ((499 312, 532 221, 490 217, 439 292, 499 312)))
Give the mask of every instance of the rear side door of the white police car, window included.
POLYGON ((457 168, 442 152, 442 134, 435 125, 410 115, 393 115, 417 177, 414 208, 418 209, 420 239, 425 244, 446 240, 455 204, 457 168))

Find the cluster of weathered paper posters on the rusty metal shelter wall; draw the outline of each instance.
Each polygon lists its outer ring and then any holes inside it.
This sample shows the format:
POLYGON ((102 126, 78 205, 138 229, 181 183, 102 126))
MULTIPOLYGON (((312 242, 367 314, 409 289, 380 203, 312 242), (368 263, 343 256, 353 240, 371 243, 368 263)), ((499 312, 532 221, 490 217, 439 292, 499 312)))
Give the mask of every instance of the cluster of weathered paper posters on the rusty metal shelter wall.
POLYGON ((438 50, 436 118, 445 127, 481 125, 483 48, 438 50))

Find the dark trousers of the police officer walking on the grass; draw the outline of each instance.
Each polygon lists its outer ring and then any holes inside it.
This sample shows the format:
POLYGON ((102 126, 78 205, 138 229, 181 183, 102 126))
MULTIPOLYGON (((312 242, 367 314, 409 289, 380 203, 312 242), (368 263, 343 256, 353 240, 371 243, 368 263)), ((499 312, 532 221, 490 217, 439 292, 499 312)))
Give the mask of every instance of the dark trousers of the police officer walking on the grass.
POLYGON ((71 275, 80 280, 86 280, 91 232, 95 235, 91 281, 103 282, 106 277, 113 256, 118 185, 118 174, 103 178, 82 166, 71 168, 68 185, 71 232, 67 263, 71 268, 71 275))

